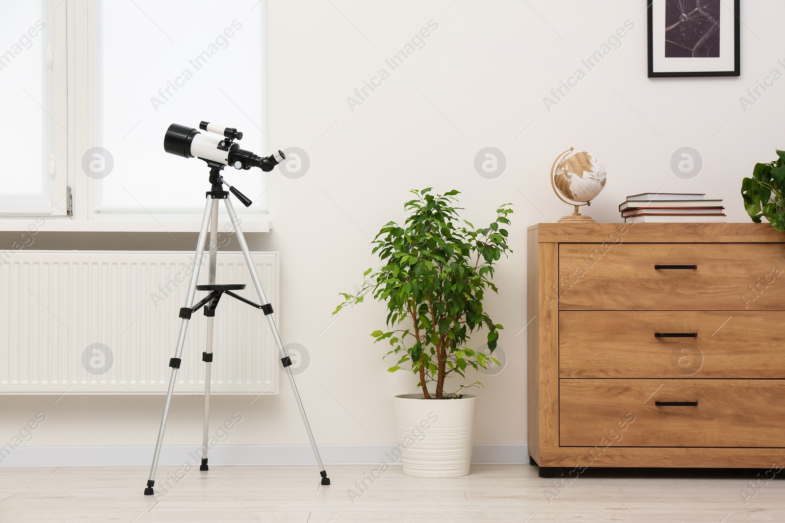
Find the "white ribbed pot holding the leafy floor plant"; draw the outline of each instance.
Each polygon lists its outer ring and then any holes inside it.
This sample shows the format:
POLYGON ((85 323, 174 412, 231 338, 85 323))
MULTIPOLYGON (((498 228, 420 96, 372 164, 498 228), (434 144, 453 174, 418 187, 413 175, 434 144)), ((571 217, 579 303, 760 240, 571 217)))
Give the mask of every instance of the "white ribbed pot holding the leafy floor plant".
POLYGON ((469 474, 477 397, 425 400, 422 393, 395 397, 403 474, 458 478, 469 474))

